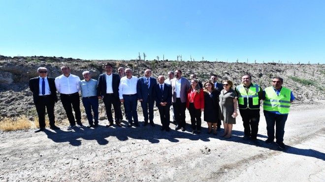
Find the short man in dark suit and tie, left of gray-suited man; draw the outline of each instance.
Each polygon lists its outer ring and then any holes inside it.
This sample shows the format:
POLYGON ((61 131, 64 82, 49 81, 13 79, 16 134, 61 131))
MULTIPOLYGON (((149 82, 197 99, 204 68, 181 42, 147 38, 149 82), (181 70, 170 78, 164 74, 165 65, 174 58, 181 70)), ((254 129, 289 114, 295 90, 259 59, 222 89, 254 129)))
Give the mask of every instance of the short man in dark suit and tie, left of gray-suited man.
POLYGON ((169 131, 169 108, 171 106, 172 93, 171 86, 165 84, 164 81, 165 78, 162 75, 158 77, 159 84, 154 87, 154 97, 159 110, 160 121, 162 122, 160 130, 169 131))

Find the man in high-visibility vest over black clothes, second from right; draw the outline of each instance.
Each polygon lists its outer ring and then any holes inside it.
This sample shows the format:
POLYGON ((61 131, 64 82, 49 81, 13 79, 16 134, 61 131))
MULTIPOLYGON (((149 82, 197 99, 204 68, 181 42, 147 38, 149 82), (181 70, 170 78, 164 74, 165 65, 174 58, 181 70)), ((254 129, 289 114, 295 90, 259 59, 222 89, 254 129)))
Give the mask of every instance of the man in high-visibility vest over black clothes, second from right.
POLYGON ((260 122, 260 100, 263 90, 259 85, 252 83, 251 75, 241 77, 243 84, 236 87, 238 95, 238 108, 244 125, 244 140, 251 139, 255 144, 261 145, 257 139, 260 122))

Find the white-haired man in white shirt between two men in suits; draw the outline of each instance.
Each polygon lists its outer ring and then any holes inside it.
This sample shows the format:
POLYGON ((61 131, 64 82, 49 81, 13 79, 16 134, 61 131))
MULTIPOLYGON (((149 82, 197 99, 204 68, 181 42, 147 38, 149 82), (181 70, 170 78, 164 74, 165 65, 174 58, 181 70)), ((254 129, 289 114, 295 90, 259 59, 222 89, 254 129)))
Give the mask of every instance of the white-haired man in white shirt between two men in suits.
POLYGON ((125 69, 125 74, 127 76, 121 78, 119 86, 120 101, 124 103, 125 109, 127 111, 129 121, 128 127, 132 126, 132 117, 134 125, 140 126, 138 122, 138 114, 136 111, 138 105, 138 96, 136 93, 136 84, 138 82, 138 78, 132 76, 133 71, 130 68, 125 69))

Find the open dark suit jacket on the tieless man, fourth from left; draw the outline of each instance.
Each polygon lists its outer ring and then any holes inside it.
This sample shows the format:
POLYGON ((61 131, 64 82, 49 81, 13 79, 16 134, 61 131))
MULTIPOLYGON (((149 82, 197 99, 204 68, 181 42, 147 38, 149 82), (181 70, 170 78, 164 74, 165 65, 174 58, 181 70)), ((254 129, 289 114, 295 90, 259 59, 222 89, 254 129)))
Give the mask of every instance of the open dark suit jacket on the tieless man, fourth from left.
MULTIPOLYGON (((119 98, 119 85, 120 85, 120 75, 116 73, 112 73, 113 78, 112 78, 112 89, 113 89, 113 94, 115 97, 119 98)), ((97 96, 103 96, 106 94, 106 72, 103 74, 100 74, 98 77, 98 86, 97 86, 97 96)))

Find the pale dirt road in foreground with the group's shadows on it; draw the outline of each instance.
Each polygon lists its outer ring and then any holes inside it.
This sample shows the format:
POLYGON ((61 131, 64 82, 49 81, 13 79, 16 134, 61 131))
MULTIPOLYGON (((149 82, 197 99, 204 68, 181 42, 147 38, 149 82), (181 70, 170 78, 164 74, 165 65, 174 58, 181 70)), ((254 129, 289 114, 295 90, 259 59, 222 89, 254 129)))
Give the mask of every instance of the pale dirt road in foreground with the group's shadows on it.
MULTIPOLYGON (((244 141, 240 116, 231 139, 156 127, 76 128, 34 133, 0 132, 0 182, 5 181, 325 181, 325 102, 292 105, 285 151, 264 143, 261 112, 258 139, 244 141)), ((188 112, 187 112, 188 114, 188 112)), ((141 116, 142 114, 139 114, 141 116)), ((203 115, 202 115, 203 118, 203 115)), ((190 123, 187 116, 187 122, 190 123)), ((140 121, 141 120, 140 118, 140 121)), ((126 122, 124 123, 126 124, 126 122)))

